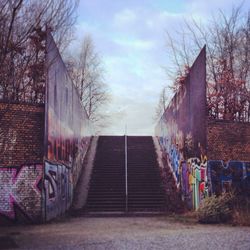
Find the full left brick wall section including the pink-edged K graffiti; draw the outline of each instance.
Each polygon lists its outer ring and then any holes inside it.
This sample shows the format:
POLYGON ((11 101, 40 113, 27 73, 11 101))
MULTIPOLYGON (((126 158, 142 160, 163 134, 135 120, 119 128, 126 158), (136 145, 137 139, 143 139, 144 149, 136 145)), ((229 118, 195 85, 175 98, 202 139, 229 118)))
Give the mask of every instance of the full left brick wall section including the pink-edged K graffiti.
POLYGON ((0 224, 42 221, 44 105, 0 103, 0 224))

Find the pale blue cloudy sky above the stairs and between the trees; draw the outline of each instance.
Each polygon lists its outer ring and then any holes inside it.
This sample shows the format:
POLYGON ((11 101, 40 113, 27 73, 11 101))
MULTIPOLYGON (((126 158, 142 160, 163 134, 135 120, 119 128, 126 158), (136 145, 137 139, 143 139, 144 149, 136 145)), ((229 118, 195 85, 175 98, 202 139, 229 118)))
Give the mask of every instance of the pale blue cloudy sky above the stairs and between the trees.
MULTIPOLYGON (((184 18, 206 21, 239 0, 80 0, 77 41, 91 34, 106 70, 112 96, 103 134, 153 135, 159 93, 170 66, 166 30, 174 34, 184 18)), ((246 0, 244 8, 250 6, 246 0)), ((77 42, 76 45, 77 46, 77 42)))

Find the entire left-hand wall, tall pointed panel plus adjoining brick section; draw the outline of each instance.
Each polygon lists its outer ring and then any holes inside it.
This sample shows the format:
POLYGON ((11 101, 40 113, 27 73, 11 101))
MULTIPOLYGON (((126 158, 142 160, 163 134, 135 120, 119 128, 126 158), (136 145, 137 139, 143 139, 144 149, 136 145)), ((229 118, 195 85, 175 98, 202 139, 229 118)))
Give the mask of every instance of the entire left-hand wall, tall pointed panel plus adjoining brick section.
POLYGON ((45 105, 0 103, 0 224, 42 222, 65 213, 91 131, 50 34, 45 105))

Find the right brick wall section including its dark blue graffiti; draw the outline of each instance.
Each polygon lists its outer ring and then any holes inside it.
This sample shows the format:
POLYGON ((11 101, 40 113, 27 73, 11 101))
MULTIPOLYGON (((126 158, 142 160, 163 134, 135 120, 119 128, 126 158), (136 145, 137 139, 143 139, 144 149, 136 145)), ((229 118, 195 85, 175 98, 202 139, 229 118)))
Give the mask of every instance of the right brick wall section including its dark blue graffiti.
POLYGON ((250 195, 250 124, 208 120, 207 141, 210 193, 236 189, 250 195))

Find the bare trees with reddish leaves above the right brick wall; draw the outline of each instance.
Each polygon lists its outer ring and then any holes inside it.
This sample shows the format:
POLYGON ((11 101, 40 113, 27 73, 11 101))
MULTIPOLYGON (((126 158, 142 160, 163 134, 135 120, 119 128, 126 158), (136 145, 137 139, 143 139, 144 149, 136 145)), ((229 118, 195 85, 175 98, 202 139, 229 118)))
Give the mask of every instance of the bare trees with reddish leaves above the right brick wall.
MULTIPOLYGON (((250 122, 250 11, 242 9, 232 8, 229 16, 219 11, 206 26, 185 21, 185 30, 175 40, 168 34, 175 66, 169 75, 185 76, 183 71, 206 44, 207 109, 214 119, 250 122)), ((181 81, 176 83, 178 91, 181 81)))

